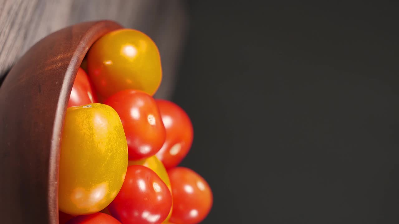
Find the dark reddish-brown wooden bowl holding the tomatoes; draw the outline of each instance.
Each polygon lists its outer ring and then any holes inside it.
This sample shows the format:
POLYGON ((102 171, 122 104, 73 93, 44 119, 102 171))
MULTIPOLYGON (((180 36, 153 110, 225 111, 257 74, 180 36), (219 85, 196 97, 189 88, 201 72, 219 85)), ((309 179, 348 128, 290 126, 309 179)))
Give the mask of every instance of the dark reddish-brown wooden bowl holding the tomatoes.
POLYGON ((0 87, 0 223, 58 224, 59 143, 83 57, 112 21, 76 24, 41 39, 0 87))

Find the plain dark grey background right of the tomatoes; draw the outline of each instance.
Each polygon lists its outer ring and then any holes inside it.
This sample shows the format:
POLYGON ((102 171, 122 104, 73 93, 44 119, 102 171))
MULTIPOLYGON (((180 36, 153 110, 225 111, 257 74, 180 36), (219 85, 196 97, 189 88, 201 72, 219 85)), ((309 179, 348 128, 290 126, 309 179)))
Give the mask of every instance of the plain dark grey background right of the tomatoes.
POLYGON ((399 223, 398 4, 322 2, 189 2, 203 223, 399 223))

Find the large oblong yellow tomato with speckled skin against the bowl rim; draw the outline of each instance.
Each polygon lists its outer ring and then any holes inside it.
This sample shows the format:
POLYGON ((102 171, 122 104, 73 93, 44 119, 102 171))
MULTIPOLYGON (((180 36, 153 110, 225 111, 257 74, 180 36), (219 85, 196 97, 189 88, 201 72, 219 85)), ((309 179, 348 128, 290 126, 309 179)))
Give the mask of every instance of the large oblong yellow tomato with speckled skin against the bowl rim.
POLYGON ((122 187, 128 163, 117 112, 98 103, 68 108, 60 149, 59 210, 73 215, 101 211, 122 187))

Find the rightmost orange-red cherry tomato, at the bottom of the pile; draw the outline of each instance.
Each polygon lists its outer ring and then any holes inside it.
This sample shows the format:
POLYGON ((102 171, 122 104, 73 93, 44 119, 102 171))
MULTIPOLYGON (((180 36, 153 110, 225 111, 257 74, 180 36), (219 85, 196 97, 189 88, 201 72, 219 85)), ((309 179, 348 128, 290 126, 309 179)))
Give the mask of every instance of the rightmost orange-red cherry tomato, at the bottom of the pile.
POLYGON ((213 202, 208 183, 198 173, 185 167, 174 167, 168 170, 168 174, 174 204, 170 221, 176 224, 201 222, 213 202))

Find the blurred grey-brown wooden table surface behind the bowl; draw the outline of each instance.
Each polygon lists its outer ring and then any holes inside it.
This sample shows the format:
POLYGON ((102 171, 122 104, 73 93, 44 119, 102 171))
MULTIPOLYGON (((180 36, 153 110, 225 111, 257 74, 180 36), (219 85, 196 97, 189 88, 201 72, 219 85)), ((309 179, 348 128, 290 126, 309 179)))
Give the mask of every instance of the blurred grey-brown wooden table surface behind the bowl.
POLYGON ((114 20, 158 45, 163 80, 156 97, 170 98, 187 19, 183 0, 0 0, 0 81, 49 33, 78 22, 114 20))

